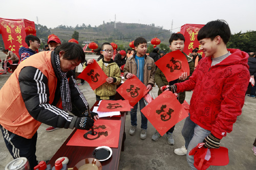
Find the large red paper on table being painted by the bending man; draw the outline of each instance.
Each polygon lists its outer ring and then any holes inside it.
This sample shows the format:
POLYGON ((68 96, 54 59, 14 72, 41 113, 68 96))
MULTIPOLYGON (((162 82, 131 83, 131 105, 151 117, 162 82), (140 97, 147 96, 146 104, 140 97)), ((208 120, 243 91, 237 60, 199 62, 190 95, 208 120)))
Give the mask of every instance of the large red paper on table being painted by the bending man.
POLYGON ((88 138, 93 140, 83 137, 83 135, 89 133, 91 129, 89 131, 78 129, 70 138, 67 145, 79 147, 108 146, 110 148, 118 148, 120 128, 121 120, 98 119, 94 123, 94 133, 97 132, 97 134, 87 135, 88 138))

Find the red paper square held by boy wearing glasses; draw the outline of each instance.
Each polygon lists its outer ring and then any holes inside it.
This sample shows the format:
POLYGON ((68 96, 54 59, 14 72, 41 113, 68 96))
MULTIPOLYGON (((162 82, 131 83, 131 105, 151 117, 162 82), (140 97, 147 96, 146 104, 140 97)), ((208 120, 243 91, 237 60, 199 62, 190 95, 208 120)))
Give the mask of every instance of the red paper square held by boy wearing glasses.
POLYGON ((106 78, 108 78, 108 76, 106 76, 105 72, 100 68, 97 61, 93 59, 93 63, 88 64, 78 78, 87 81, 91 88, 95 90, 106 82, 106 78))

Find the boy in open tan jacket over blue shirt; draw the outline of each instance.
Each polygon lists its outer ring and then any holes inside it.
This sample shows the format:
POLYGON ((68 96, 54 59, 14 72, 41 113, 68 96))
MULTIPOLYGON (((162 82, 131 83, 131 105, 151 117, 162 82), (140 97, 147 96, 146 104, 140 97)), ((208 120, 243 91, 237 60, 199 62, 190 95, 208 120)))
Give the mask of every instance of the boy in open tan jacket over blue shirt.
MULTIPOLYGON (((134 41, 135 50, 137 53, 134 53, 132 57, 129 57, 126 60, 123 69, 123 76, 126 79, 131 79, 133 75, 136 75, 140 81, 146 86, 146 90, 152 90, 155 82, 154 76, 156 72, 156 65, 154 60, 146 55, 147 50, 147 41, 143 37, 136 38, 134 41)), ((140 110, 145 107, 144 100, 139 101, 140 110)), ((130 135, 134 135, 137 128, 137 108, 138 103, 131 109, 131 129, 129 131, 130 135)), ((146 129, 147 129, 147 118, 141 114, 141 132, 140 138, 146 138, 146 129)))

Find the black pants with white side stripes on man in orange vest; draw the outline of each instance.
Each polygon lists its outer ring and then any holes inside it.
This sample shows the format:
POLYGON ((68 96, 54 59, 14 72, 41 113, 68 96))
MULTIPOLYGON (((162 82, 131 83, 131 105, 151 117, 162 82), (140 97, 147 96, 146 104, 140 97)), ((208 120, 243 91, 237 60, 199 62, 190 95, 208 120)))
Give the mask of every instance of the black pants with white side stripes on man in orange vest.
POLYGON ((8 148, 13 159, 25 157, 29 161, 30 168, 34 169, 34 167, 38 164, 35 156, 37 132, 31 139, 27 139, 6 130, 1 125, 0 129, 3 133, 6 147, 8 148))

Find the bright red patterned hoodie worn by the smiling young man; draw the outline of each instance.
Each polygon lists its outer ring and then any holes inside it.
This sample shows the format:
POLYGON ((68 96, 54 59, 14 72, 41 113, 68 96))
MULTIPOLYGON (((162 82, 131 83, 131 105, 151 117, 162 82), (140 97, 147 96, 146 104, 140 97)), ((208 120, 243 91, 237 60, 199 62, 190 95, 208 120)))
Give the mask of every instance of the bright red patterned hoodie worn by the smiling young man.
POLYGON ((230 56, 211 66, 211 57, 200 60, 187 81, 177 83, 177 92, 194 90, 190 100, 191 120, 218 138, 232 131, 242 113, 249 82, 248 54, 228 49, 230 56))

